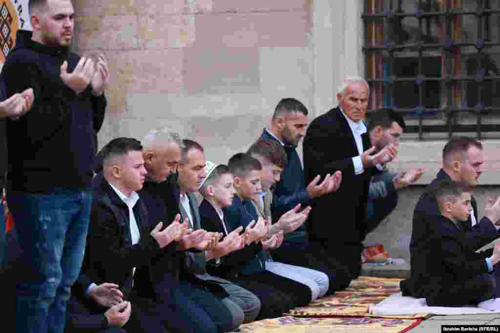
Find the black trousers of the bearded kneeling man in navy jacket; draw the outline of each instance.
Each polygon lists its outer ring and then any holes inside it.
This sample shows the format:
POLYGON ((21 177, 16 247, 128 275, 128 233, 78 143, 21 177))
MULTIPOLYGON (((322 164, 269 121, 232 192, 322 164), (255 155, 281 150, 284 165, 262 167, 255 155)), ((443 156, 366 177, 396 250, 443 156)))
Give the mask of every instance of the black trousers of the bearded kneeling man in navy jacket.
MULTIPOLYGON (((352 279, 357 278, 355 270, 351 272, 346 264, 336 260, 330 253, 331 251, 313 243, 289 242, 284 242, 278 249, 271 251, 272 258, 277 262, 306 267, 326 274, 329 279, 326 295, 344 290, 352 279)), ((342 254, 343 252, 339 253, 342 254)))

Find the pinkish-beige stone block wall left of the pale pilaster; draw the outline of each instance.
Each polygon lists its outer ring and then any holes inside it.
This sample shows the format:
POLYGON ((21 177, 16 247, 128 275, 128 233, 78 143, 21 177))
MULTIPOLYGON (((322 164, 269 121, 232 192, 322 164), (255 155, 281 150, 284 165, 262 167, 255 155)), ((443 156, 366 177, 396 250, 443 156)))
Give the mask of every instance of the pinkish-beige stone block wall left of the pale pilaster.
POLYGON ((314 114, 311 2, 73 0, 80 54, 111 67, 99 147, 170 126, 227 162, 283 97, 314 114))

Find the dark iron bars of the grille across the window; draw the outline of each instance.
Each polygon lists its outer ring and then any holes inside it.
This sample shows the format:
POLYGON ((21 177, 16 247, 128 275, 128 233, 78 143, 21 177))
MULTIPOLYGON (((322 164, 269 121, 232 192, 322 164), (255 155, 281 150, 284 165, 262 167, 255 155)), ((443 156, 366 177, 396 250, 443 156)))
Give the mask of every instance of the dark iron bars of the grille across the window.
MULTIPOLYGON (((408 125, 406 127, 406 132, 410 133, 418 133, 418 138, 420 140, 423 139, 423 133, 429 132, 447 132, 448 136, 451 137, 455 132, 475 132, 479 139, 482 138, 483 132, 500 132, 500 123, 498 124, 484 124, 483 116, 498 114, 498 119, 495 121, 500 121, 500 106, 491 105, 485 106, 484 95, 487 92, 484 91, 485 83, 497 84, 500 87, 500 70, 494 70, 491 74, 490 69, 486 68, 488 64, 485 64, 485 57, 488 57, 488 53, 486 52, 488 49, 500 46, 500 26, 498 27, 498 41, 491 41, 490 38, 490 24, 489 18, 491 15, 500 14, 500 8, 490 8, 489 0, 478 0, 477 9, 476 10, 462 10, 461 8, 452 7, 451 1, 445 1, 444 10, 435 11, 428 10, 425 11, 422 9, 423 2, 426 2, 430 6, 430 1, 415 1, 418 2, 417 9, 414 12, 403 12, 402 11, 402 0, 397 1, 397 8, 394 8, 394 1, 389 1, 389 8, 384 8, 383 2, 378 0, 378 6, 382 6, 382 10, 376 10, 376 5, 374 4, 377 0, 372 1, 372 12, 364 12, 362 14, 362 19, 364 21, 365 27, 368 31, 368 25, 371 24, 371 28, 373 29, 373 33, 376 33, 376 28, 378 28, 378 32, 383 37, 382 40, 376 40, 374 37, 373 40, 366 39, 365 45, 363 47, 363 53, 368 59, 370 55, 378 55, 381 58, 382 64, 387 63, 389 71, 392 71, 394 68, 395 60, 398 58, 407 58, 406 56, 397 57, 395 56, 396 52, 404 52, 410 51, 412 54, 410 57, 418 61, 418 72, 416 75, 409 75, 404 77, 397 77, 392 72, 386 75, 382 74, 383 77, 369 77, 367 75, 367 81, 370 86, 378 85, 379 93, 382 94, 383 99, 385 99, 386 95, 389 96, 389 100, 387 103, 384 101, 384 104, 380 107, 370 108, 368 112, 375 111, 379 108, 390 108, 396 112, 400 112, 404 114, 406 117, 416 117, 418 120, 417 125, 408 125), (456 31, 453 31, 453 27, 457 29, 455 20, 457 18, 463 17, 463 15, 474 15, 476 19, 476 28, 477 28, 477 39, 475 42, 464 42, 461 40, 461 36, 456 37, 456 31), (386 27, 389 27, 391 24, 394 24, 395 19, 399 20, 399 23, 402 27, 402 19, 406 17, 415 17, 418 20, 418 33, 417 40, 407 43, 397 43, 390 39, 391 36, 385 35, 386 27), (423 40, 424 37, 424 23, 426 27, 426 32, 429 33, 430 30, 430 19, 438 18, 441 20, 440 27, 442 29, 441 35, 439 36, 440 42, 436 42, 433 40, 432 42, 425 42, 423 40), (425 22, 424 22, 425 20, 425 22), (375 24, 379 24, 375 26, 375 24), (444 35, 444 38, 442 38, 444 35), (453 38, 453 35, 455 38, 453 38), (472 72, 468 72, 467 75, 463 75, 461 73, 454 72, 454 67, 456 63, 453 63, 453 60, 459 61, 458 67, 466 67, 468 59, 461 58, 462 56, 462 48, 471 47, 475 49, 475 52, 466 52, 465 55, 470 56, 469 59, 472 59, 473 56, 477 56, 477 59, 474 61, 477 62, 477 66, 472 69, 472 72), (427 54, 424 54, 427 52, 427 54), (428 52, 434 52, 435 54, 428 54, 428 52), (422 73, 422 59, 424 58, 440 58, 440 67, 444 68, 444 70, 440 70, 441 73, 436 73, 436 76, 428 76, 422 73), (457 60, 457 57, 459 60, 457 60), (396 105, 394 101, 394 90, 395 83, 413 83, 415 90, 418 91, 418 102, 415 107, 401 107, 396 105), (439 84, 440 88, 440 96, 441 102, 444 100, 444 103, 441 103, 440 107, 425 107, 425 103, 423 100, 424 94, 424 85, 427 82, 434 82, 435 84, 439 84), (469 84, 466 87, 466 91, 462 93, 456 93, 461 84, 469 84), (477 90, 477 103, 475 105, 467 105, 467 102, 464 99, 467 99, 467 94, 469 90, 472 89, 477 90), (384 92, 385 90, 385 92, 384 92), (457 100, 456 95, 459 96, 457 100), (456 115, 458 113, 468 113, 470 115, 475 115, 475 124, 458 124, 456 122, 456 115), (444 124, 423 124, 423 120, 429 117, 435 117, 436 115, 442 115, 446 119, 444 124)), ((459 2, 459 1, 458 1, 459 2)), ((500 16, 499 16, 500 20, 500 16)), ((460 23, 461 24, 461 23, 460 23)), ((459 30, 461 31, 461 26, 459 26, 459 30)), ((404 30, 403 30, 404 31, 404 30)), ((394 34, 394 31, 391 31, 394 34)), ((407 32, 407 31, 404 31, 407 32)), ((392 35, 394 37, 394 35, 392 35)), ((432 36, 430 36, 432 37, 432 36)), ((373 68, 377 66, 375 63, 376 59, 372 58, 373 68)), ((380 59, 378 59, 380 61, 380 59)), ((494 61, 492 62, 494 65, 494 61)), ((368 68, 368 66, 367 66, 368 68)), ((376 69, 373 69, 376 71, 376 69)), ((468 69, 465 69, 468 71, 468 69)), ((382 71, 385 71, 383 69, 382 71)), ((372 76, 376 76, 372 75, 372 76)), ((492 89, 492 88, 491 88, 492 89)), ((488 97, 488 96, 486 96, 488 97)), ((492 100, 491 104, 494 103, 493 96, 489 96, 492 100)), ((369 116, 369 114, 368 114, 369 116)))

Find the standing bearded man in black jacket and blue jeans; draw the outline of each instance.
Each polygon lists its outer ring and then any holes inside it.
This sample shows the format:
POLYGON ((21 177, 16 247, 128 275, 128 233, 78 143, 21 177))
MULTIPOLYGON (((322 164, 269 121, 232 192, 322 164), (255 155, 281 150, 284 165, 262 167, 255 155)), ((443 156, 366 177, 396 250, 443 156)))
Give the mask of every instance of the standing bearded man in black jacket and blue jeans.
POLYGON ((103 56, 94 63, 69 51, 70 0, 30 0, 29 13, 33 32, 20 31, 2 69, 7 96, 34 94, 30 112, 6 128, 7 200, 31 267, 17 284, 16 331, 61 333, 83 259, 109 71, 103 56))

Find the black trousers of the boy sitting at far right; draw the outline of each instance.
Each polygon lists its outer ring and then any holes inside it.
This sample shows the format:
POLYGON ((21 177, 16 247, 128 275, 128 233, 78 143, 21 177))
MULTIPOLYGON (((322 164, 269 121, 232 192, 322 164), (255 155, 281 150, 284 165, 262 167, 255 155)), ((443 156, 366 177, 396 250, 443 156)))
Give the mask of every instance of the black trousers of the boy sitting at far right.
POLYGON ((495 284, 491 274, 483 273, 461 283, 442 286, 439 293, 432 293, 425 301, 429 307, 476 306, 493 298, 495 284))

